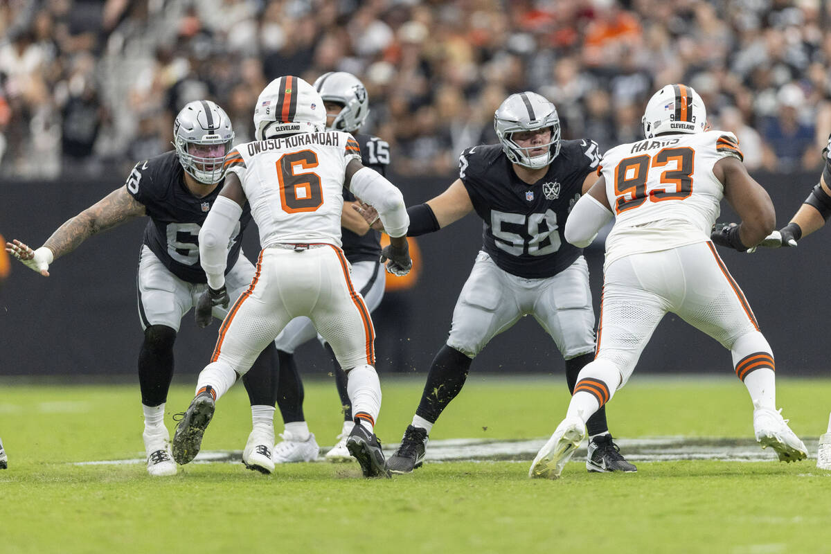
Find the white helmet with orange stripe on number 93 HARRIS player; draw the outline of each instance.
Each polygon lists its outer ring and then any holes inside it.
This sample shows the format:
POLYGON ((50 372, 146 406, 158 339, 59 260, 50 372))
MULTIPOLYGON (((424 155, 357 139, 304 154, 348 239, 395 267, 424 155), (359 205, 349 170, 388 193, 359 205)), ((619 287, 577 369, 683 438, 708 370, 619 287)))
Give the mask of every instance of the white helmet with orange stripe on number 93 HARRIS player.
POLYGON ((707 127, 707 110, 691 86, 667 85, 649 99, 641 122, 647 139, 661 133, 701 133, 707 127))

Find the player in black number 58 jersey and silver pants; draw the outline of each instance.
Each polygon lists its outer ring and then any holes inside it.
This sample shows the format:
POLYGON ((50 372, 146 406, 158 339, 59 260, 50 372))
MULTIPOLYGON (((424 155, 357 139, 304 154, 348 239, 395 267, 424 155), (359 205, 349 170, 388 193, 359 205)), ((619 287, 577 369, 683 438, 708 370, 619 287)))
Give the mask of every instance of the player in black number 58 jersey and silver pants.
MULTIPOLYGON (((475 211, 484 246, 453 311, 447 343, 435 355, 421 401, 401 446, 387 461, 410 473, 425 457, 435 420, 465 384, 470 363, 494 336, 533 315, 566 360, 568 389, 593 359, 594 311, 582 250, 563 227, 580 195, 597 180, 592 140, 560 140, 557 110, 543 96, 509 96, 494 116, 499 145, 461 154, 459 179, 444 193, 408 208, 409 236, 438 231, 475 211)), ((361 210, 367 221, 375 214, 361 210)), ((586 467, 634 472, 612 442, 606 414, 589 419, 586 467)))

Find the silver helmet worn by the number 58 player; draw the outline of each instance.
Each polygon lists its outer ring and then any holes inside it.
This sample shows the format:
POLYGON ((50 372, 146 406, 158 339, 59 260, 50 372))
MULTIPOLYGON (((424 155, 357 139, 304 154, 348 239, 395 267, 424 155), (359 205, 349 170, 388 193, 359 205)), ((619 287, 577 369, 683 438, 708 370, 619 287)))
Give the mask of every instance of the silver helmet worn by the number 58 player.
POLYGON ((502 150, 511 163, 530 169, 543 168, 560 153, 560 118, 557 108, 536 92, 512 94, 499 105, 494 113, 494 129, 502 150), (547 145, 522 148, 514 142, 514 133, 551 128, 551 139, 547 145), (531 150, 548 146, 545 154, 531 156, 531 150))

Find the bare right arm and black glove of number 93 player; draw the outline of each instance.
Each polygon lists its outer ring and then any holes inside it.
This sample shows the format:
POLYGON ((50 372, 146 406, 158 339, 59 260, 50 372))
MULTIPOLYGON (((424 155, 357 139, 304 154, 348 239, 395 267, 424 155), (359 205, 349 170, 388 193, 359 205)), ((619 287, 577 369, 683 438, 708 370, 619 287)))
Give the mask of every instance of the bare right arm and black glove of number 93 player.
POLYGON ((739 225, 723 228, 720 237, 713 237, 714 242, 740 252, 755 247, 773 231, 776 224, 776 212, 770 196, 762 185, 750 177, 745 164, 739 159, 720 159, 713 166, 713 174, 724 184, 725 199, 741 219, 739 225))

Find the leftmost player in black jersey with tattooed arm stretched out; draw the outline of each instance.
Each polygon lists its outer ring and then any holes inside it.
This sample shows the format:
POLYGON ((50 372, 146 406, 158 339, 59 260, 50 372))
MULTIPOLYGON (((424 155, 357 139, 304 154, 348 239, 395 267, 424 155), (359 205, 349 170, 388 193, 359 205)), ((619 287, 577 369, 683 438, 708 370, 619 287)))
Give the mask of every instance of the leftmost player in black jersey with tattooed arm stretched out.
MULTIPOLYGON (((7 251, 44 276, 57 258, 72 252, 86 238, 132 218, 149 216, 138 269, 138 308, 145 333, 139 351, 139 383, 145 415, 144 441, 150 475, 176 473, 165 427, 165 402, 173 377, 173 345, 179 321, 205 291, 199 265, 199 228, 224 184, 224 156, 231 150, 234 130, 228 115, 212 101, 193 101, 176 116, 175 150, 135 164, 124 186, 61 225, 41 248, 32 251, 18 240, 7 251)), ((240 238, 251 221, 245 208, 228 249, 223 306, 213 315, 222 319, 229 301, 238 297, 254 275, 240 255, 240 238)), ((197 313, 199 319, 199 313, 197 313)), ((203 314, 210 321, 210 316, 203 314)), ((202 321, 200 326, 206 325, 202 321)), ((263 473, 273 471, 274 347, 259 356, 244 379, 251 400, 253 430, 243 462, 263 473)))

